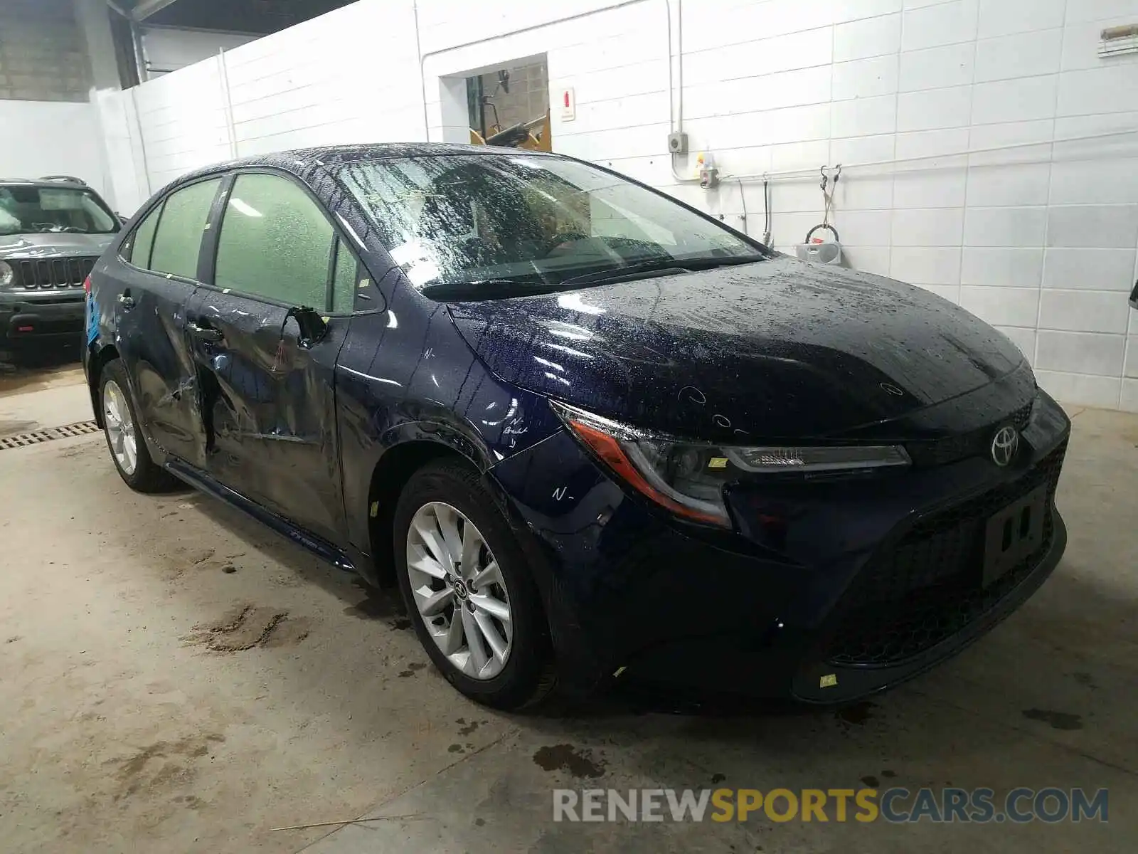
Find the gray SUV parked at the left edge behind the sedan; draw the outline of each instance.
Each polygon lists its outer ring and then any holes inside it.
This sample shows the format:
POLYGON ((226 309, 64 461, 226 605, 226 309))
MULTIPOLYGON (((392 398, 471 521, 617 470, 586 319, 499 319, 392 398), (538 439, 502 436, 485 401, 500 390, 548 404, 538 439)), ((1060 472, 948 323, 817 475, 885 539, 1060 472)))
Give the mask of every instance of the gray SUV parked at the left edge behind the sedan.
POLYGON ((77 178, 0 179, 0 350, 82 331, 83 280, 119 228, 77 178))

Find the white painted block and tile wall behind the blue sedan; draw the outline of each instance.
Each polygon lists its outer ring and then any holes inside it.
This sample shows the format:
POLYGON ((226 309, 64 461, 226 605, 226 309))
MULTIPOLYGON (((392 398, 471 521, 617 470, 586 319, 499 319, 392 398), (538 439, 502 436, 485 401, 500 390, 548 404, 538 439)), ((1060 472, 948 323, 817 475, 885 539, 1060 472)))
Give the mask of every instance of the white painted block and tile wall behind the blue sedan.
MULTIPOLYGON (((617 2, 360 0, 250 42, 225 55, 238 153, 461 138, 444 75, 461 91, 468 72, 544 55, 551 91, 577 93, 574 122, 553 115, 556 150, 728 216, 731 175, 770 172, 783 248, 822 219, 817 167, 843 163, 832 215, 849 265, 997 325, 1067 402, 1138 410, 1138 56, 1097 56, 1138 0, 690 0, 684 130, 724 174, 710 194, 677 184, 663 148, 679 22, 669 44, 666 5, 617 2)), ((230 156, 216 72, 100 97, 116 190, 230 156)), ((743 192, 753 235, 761 186, 743 192)))

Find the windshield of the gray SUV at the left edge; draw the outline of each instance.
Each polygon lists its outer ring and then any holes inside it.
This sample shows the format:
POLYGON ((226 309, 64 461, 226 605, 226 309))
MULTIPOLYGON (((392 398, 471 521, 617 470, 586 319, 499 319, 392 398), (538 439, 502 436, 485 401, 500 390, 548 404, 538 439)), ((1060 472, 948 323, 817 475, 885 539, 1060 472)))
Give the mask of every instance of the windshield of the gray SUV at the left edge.
POLYGON ((0 235, 109 235, 117 230, 117 217, 91 190, 0 184, 0 235))

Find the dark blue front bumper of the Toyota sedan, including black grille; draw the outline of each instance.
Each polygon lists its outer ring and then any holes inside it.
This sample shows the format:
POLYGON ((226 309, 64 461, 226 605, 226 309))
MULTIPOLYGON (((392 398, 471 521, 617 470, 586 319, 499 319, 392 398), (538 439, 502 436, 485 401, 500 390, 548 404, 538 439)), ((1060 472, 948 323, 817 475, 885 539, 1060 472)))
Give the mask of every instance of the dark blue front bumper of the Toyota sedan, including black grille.
POLYGON ((844 703, 954 655, 1055 568, 1070 421, 1038 395, 1006 468, 983 458, 872 479, 732 493, 736 527, 696 529, 628 496, 561 433, 492 469, 533 537, 563 675, 844 703), (987 519, 1046 485, 1041 545, 987 589, 987 519), (764 531, 748 519, 776 518, 764 531), (743 523, 743 524, 740 524, 743 523))

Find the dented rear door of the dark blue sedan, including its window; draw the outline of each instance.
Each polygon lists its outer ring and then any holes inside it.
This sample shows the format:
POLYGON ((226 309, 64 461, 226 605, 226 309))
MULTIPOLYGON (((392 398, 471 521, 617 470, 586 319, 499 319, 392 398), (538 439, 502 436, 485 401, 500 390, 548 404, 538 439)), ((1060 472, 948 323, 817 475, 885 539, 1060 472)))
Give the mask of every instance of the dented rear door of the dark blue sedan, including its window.
POLYGON ((205 438, 185 311, 198 287, 201 237, 221 183, 212 178, 183 187, 142 219, 119 249, 126 263, 113 306, 139 416, 163 450, 199 468, 205 438))

